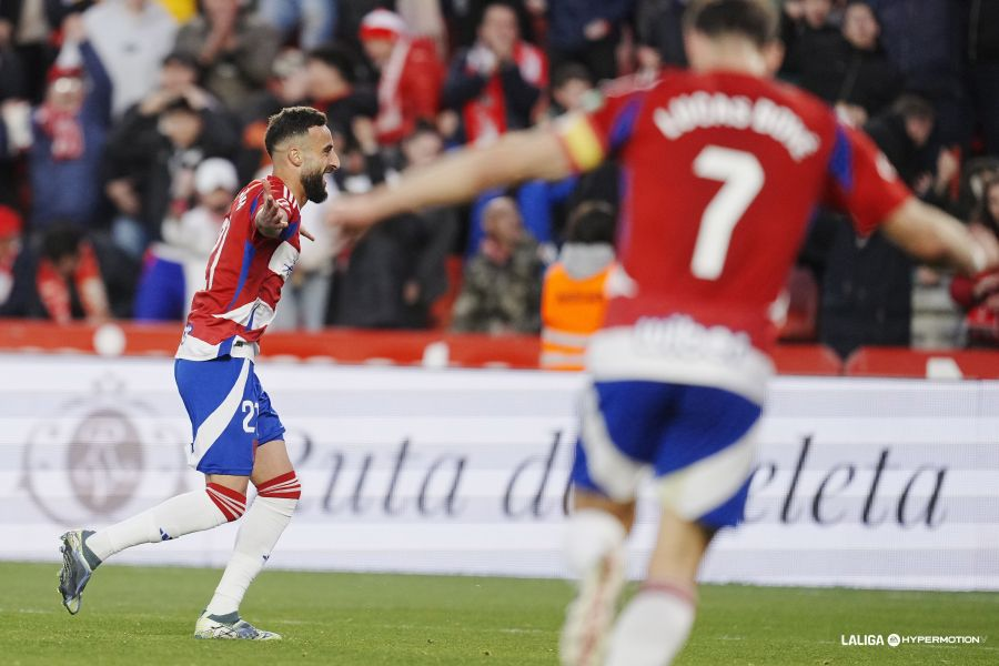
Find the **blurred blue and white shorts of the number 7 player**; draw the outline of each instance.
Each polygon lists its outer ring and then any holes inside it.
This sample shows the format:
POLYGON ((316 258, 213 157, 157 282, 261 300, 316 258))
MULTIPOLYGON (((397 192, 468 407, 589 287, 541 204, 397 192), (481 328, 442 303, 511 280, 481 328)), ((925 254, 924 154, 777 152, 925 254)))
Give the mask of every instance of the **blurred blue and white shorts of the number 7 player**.
POLYGON ((597 382, 584 396, 573 483, 627 502, 650 470, 664 506, 709 527, 736 525, 761 411, 712 386, 597 382))

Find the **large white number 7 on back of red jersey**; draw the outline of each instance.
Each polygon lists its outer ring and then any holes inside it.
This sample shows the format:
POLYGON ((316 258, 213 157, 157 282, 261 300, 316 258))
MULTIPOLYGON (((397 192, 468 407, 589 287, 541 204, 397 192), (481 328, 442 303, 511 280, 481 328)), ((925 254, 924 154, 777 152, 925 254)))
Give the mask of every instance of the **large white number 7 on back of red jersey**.
POLYGON ((722 189, 700 216, 690 260, 690 272, 696 278, 717 280, 725 266, 731 232, 763 188, 764 170, 753 153, 708 145, 694 160, 694 173, 722 181, 722 189))

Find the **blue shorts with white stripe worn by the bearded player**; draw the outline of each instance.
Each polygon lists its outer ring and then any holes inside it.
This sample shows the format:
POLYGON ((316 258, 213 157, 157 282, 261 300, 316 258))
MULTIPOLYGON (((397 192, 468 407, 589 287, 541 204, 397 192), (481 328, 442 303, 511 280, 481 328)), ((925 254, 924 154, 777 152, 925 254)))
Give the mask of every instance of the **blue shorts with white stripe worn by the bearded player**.
POLYGON ((199 472, 250 476, 256 446, 284 436, 249 359, 178 359, 173 377, 191 418, 188 464, 199 472))

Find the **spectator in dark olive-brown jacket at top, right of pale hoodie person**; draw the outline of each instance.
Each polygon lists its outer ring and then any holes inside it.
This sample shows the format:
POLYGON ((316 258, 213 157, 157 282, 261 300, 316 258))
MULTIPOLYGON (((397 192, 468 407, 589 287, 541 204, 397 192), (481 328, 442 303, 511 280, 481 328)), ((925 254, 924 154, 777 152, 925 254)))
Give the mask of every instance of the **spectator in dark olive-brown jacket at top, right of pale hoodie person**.
POLYGON ((175 49, 201 65, 203 85, 232 111, 266 82, 278 32, 241 0, 202 0, 202 13, 181 28, 175 49))

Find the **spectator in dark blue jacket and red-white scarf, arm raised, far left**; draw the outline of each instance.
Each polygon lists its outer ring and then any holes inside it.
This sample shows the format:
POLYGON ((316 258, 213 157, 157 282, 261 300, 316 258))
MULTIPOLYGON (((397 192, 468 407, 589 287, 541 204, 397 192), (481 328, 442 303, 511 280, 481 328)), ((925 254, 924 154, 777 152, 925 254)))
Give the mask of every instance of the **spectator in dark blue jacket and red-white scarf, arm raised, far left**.
POLYGON ((111 129, 111 80, 82 19, 64 23, 62 52, 49 72, 46 100, 34 112, 29 152, 32 230, 57 220, 89 228, 102 192, 100 167, 111 129), (81 67, 82 65, 82 67, 81 67))

